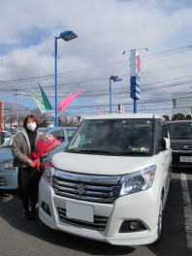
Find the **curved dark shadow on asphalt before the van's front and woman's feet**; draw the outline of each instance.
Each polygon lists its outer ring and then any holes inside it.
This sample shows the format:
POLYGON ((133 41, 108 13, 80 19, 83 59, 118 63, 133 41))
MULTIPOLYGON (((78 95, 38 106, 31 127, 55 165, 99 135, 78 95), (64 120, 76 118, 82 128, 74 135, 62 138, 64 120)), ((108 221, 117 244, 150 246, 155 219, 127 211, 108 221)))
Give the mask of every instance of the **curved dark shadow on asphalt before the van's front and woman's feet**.
POLYGON ((0 215, 12 227, 22 233, 90 255, 128 255, 135 250, 134 247, 114 246, 107 242, 87 240, 68 233, 52 230, 40 219, 24 222, 22 206, 18 195, 9 191, 6 193, 0 191, 0 215))

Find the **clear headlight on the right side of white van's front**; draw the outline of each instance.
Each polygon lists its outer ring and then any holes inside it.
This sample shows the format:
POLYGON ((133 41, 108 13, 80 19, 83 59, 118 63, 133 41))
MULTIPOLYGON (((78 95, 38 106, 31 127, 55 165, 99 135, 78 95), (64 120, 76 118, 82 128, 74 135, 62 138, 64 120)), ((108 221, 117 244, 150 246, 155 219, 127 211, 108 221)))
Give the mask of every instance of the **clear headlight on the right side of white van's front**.
POLYGON ((152 186, 156 166, 145 168, 139 172, 121 177, 120 196, 144 191, 152 186))

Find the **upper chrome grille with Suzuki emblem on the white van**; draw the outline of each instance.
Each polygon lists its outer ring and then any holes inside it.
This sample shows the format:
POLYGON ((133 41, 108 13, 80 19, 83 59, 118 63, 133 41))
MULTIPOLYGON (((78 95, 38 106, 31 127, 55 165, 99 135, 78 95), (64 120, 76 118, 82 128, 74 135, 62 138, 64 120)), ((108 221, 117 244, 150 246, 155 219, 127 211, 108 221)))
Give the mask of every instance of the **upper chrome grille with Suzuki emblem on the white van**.
POLYGON ((81 201, 112 204, 119 196, 120 176, 87 176, 55 172, 52 187, 56 195, 81 201))

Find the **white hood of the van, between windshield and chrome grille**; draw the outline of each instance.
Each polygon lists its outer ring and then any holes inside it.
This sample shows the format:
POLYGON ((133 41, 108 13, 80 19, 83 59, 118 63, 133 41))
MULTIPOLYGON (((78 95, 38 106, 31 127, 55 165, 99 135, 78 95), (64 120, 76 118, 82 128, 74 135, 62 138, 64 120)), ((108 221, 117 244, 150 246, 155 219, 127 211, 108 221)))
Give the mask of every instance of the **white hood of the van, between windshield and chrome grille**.
POLYGON ((60 152, 51 159, 51 164, 63 171, 90 175, 123 175, 134 173, 155 165, 156 156, 104 156, 60 152))

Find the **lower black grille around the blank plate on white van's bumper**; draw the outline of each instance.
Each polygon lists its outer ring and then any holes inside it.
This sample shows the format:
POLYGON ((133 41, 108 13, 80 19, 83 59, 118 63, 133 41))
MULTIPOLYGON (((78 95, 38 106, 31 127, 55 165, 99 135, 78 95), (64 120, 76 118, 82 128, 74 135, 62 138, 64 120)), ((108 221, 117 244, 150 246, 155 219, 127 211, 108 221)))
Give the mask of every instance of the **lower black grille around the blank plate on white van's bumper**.
POLYGON ((86 222, 78 219, 71 219, 66 216, 65 208, 58 208, 60 220, 75 226, 79 226, 86 229, 103 231, 106 228, 108 218, 103 216, 94 215, 94 222, 86 222))

